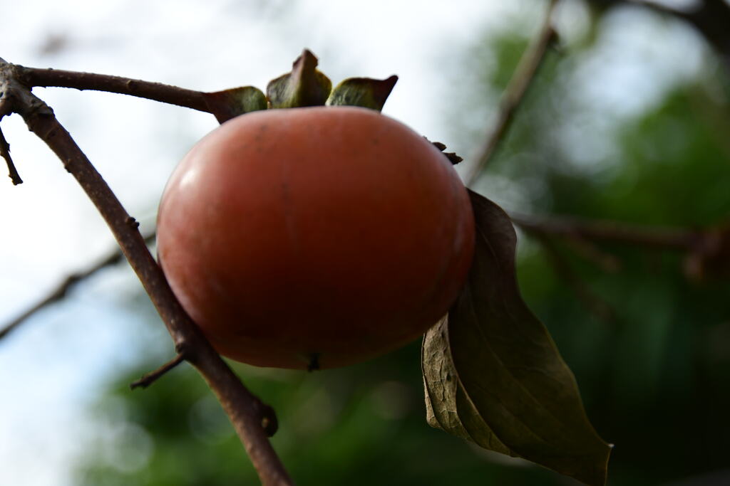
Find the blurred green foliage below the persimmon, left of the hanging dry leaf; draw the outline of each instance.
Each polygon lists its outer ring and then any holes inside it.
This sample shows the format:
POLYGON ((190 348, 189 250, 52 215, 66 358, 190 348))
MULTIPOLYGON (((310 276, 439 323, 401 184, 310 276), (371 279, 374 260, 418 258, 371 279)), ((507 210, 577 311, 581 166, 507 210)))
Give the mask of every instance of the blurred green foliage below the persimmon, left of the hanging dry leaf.
MULTIPOLYGON (((485 458, 492 456, 429 428, 419 353, 414 343, 365 364, 315 373, 236 367, 277 410, 280 430, 272 442, 299 485, 466 485, 485 478, 564 484, 542 469, 491 468, 485 458)), ((99 404, 102 418, 113 415, 116 427, 131 433, 104 434, 91 444, 95 453, 82 466, 80 484, 258 484, 226 415, 191 367, 145 391, 128 391, 142 372, 120 377, 99 404), (124 440, 140 431, 144 439, 124 440), (139 444, 147 442, 141 461, 139 444)))

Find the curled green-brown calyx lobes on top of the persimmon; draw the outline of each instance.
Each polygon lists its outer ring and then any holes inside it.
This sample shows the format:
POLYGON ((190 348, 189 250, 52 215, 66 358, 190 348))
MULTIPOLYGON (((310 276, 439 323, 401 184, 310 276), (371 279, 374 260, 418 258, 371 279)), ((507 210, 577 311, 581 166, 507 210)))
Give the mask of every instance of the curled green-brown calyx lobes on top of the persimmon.
POLYGON ((257 87, 236 87, 206 93, 205 98, 218 122, 263 109, 300 108, 304 106, 361 106, 380 111, 398 81, 348 78, 332 89, 332 82, 317 69, 318 60, 305 49, 293 63, 291 72, 272 79, 266 95, 257 87))

